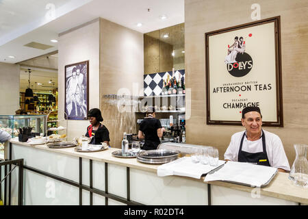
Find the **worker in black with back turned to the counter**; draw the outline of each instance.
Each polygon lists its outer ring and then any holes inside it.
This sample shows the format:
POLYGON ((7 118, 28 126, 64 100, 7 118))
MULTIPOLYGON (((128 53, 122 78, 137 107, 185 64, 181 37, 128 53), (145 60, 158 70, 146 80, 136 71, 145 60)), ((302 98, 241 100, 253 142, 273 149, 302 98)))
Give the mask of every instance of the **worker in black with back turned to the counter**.
POLYGON ((159 138, 163 135, 164 128, 155 118, 155 108, 146 110, 146 117, 140 123, 138 138, 144 139, 143 150, 155 150, 160 144, 159 138))

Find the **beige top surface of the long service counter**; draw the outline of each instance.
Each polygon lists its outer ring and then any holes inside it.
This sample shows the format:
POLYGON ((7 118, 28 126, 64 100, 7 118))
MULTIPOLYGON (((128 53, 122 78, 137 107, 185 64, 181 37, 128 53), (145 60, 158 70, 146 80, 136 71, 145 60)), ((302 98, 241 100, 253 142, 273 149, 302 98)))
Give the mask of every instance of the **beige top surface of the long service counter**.
MULTIPOLYGON (((18 140, 10 140, 10 142, 14 144, 21 144, 24 146, 30 146, 36 149, 42 149, 45 151, 52 151, 54 153, 62 153, 70 156, 75 157, 82 157, 86 159, 92 159, 99 162, 106 162, 110 164, 118 164, 120 166, 127 166, 129 168, 136 168, 140 170, 146 170, 149 172, 157 172, 157 168, 159 164, 144 164, 141 162, 138 162, 136 158, 119 158, 112 156, 112 152, 118 151, 120 149, 115 148, 108 148, 105 151, 99 151, 99 152, 77 152, 74 150, 74 147, 66 148, 66 149, 49 149, 49 147, 46 144, 37 144, 37 145, 31 145, 27 144, 25 142, 18 142, 18 140)), ((299 186, 296 186, 288 179, 289 174, 285 172, 277 172, 277 175, 270 181, 269 185, 267 185, 265 188, 261 188, 261 195, 265 196, 272 196, 274 198, 281 198, 285 199, 287 201, 294 201, 296 203, 304 203, 308 205, 308 189, 301 188, 299 186)), ((201 179, 193 179, 189 177, 185 177, 191 180, 196 181, 203 181, 203 178, 201 179)), ((237 185, 233 183, 227 183, 223 181, 210 181, 207 182, 211 185, 219 185, 226 188, 231 188, 234 190, 241 190, 244 192, 251 192, 254 188, 244 186, 244 185, 237 185)))

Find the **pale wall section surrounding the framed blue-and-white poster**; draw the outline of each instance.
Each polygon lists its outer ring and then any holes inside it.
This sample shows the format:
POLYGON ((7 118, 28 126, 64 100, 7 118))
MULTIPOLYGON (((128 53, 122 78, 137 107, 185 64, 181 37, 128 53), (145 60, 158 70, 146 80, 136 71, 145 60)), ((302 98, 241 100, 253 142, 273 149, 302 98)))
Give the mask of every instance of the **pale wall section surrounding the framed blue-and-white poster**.
MULTIPOLYGON (((99 19, 60 34, 58 57, 60 118, 64 116, 64 66, 68 64, 89 60, 89 110, 99 108, 99 19)), ((68 140, 84 135, 88 125, 88 120, 68 120, 68 140)))

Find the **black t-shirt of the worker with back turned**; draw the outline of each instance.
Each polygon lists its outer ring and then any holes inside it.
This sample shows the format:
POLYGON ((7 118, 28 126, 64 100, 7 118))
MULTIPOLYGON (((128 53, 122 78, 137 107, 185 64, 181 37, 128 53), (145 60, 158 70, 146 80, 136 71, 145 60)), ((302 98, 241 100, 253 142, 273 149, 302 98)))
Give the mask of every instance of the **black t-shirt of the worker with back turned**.
POLYGON ((144 118, 140 123, 139 130, 144 133, 144 142, 152 141, 152 142, 160 142, 157 136, 157 129, 161 129, 162 125, 157 118, 144 118))

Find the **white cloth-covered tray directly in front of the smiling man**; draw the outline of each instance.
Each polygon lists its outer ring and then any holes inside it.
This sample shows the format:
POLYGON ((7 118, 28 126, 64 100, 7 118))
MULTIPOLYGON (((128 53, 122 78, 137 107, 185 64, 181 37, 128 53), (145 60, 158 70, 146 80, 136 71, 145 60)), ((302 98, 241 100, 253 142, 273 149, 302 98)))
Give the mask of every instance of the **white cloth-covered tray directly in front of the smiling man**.
POLYGON ((219 170, 208 174, 204 181, 229 181, 261 187, 277 173, 277 168, 243 162, 227 162, 219 170))

